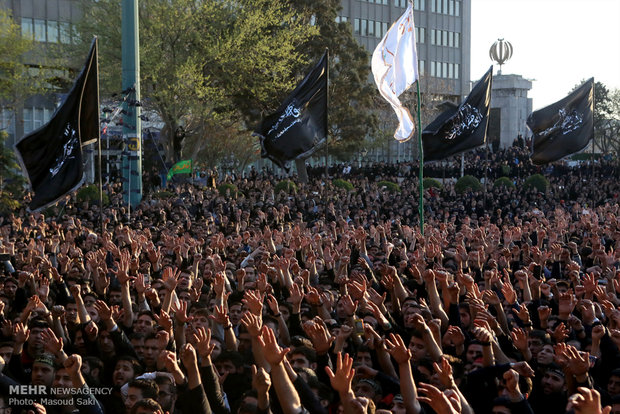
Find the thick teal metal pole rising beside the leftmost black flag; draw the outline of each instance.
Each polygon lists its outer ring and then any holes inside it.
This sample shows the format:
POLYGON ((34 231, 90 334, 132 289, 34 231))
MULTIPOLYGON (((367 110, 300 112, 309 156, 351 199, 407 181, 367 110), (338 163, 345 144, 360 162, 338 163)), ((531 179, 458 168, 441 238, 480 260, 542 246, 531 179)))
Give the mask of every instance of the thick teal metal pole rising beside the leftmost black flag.
POLYGON ((142 200, 142 125, 140 122, 140 38, 138 0, 122 3, 122 86, 128 99, 123 103, 123 199, 136 207, 142 200))

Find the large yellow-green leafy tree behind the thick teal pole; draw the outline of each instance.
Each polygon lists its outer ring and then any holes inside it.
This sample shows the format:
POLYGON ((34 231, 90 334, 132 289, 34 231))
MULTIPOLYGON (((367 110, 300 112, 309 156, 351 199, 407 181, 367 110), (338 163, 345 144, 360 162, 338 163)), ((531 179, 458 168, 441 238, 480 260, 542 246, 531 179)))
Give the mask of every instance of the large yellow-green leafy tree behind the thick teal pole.
MULTIPOLYGON (((103 94, 120 90, 121 11, 118 0, 82 0, 82 39, 100 37, 103 94)), ((275 97, 295 86, 308 63, 300 48, 316 28, 269 0, 141 0, 142 104, 163 122, 162 144, 176 161, 174 136, 183 127, 199 154, 210 140, 240 125, 252 129, 275 97)), ((82 45, 82 50, 85 46, 82 45)), ((230 137, 228 137, 230 138, 230 137)))

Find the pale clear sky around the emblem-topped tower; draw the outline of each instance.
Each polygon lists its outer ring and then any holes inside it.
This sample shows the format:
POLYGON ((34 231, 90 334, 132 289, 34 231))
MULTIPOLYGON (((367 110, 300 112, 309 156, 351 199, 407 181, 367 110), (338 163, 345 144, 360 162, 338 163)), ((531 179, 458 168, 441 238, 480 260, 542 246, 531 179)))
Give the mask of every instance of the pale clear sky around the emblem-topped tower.
MULTIPOLYGON (((552 104, 594 77, 620 89, 620 0, 471 0, 471 77, 491 65, 499 38, 513 47, 503 74, 533 80, 533 109, 552 104)), ((497 74, 495 65, 493 73, 497 74)))

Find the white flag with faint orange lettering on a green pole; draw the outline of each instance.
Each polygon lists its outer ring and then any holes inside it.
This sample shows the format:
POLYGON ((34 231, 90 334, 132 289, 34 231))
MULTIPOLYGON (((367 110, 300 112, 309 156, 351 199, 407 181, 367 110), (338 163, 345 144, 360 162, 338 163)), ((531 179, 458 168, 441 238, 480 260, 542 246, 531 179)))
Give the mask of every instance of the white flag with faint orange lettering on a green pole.
POLYGON ((372 54, 372 74, 379 93, 392 105, 398 117, 394 138, 408 140, 413 135, 413 118, 398 97, 419 77, 411 2, 372 54))

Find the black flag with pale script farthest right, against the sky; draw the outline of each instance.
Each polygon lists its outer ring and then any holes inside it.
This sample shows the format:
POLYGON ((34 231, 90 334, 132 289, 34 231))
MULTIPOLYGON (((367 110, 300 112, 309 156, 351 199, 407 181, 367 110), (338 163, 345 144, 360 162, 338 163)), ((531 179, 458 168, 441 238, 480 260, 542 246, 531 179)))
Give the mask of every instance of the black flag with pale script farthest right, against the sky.
POLYGON ((561 101, 532 112, 527 126, 534 134, 536 165, 582 150, 594 135, 594 78, 561 101))

